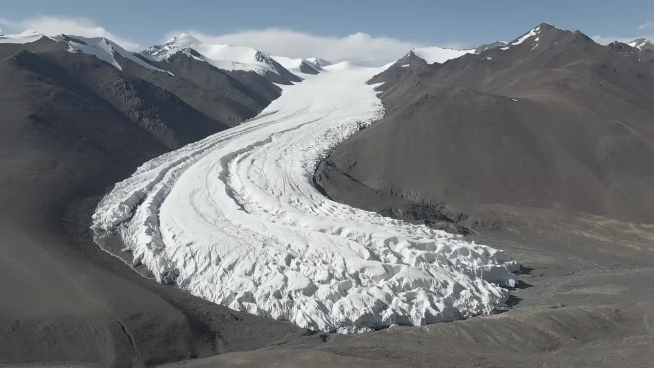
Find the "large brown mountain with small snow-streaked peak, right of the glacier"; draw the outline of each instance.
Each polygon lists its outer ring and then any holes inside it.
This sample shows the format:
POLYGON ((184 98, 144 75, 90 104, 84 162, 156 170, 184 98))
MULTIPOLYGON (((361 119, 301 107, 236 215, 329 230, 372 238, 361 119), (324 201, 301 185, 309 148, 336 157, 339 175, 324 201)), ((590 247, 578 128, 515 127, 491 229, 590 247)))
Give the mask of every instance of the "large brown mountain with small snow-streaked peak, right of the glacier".
POLYGON ((382 88, 388 116, 317 171, 334 198, 400 213, 426 206, 435 221, 470 226, 553 208, 654 218, 654 69, 579 31, 541 24, 382 88), (343 181, 377 202, 331 184, 343 181))

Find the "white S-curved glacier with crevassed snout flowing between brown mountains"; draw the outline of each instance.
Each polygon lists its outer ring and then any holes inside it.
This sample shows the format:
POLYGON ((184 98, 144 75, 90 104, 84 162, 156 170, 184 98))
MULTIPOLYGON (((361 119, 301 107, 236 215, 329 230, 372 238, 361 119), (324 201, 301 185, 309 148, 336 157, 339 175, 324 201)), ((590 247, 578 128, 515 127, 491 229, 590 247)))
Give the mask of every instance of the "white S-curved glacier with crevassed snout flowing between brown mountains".
POLYGON ((334 68, 284 87, 258 118, 141 166, 99 204, 159 282, 319 331, 492 312, 519 265, 502 251, 328 200, 318 160, 383 107, 377 70, 334 68))

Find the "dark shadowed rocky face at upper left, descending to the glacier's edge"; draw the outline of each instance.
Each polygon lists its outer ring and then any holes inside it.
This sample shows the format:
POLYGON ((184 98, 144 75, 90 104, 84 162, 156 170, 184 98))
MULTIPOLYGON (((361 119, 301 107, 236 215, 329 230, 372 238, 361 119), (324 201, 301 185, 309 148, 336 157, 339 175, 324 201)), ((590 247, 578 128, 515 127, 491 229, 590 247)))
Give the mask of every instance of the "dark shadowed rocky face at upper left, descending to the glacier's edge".
POLYGON ((228 128, 168 90, 124 73, 94 56, 81 52, 73 54, 57 45, 52 47, 60 49, 22 51, 3 60, 7 68, 37 73, 62 90, 88 98, 91 104, 112 107, 169 149, 228 128))

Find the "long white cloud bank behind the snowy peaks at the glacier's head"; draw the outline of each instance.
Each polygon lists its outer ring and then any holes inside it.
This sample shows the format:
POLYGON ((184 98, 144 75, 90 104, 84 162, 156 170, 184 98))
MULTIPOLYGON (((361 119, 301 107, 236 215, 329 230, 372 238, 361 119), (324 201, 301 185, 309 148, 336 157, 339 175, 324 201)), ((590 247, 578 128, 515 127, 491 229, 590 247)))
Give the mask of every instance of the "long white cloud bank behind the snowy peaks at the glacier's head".
MULTIPOLYGON (((375 66, 394 62, 412 48, 426 46, 391 37, 373 37, 361 32, 345 37, 311 35, 279 28, 252 29, 223 35, 209 35, 192 29, 185 32, 203 43, 230 43, 290 58, 317 57, 330 62, 349 60, 375 66)), ((169 36, 179 33, 181 32, 171 32, 169 36)))

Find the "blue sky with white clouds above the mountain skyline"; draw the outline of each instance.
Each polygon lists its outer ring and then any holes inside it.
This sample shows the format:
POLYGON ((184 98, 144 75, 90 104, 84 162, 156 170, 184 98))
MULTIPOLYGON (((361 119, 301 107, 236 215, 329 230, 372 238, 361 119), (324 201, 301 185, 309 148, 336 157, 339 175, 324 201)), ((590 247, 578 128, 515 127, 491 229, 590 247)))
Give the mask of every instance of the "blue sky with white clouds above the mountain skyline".
POLYGON ((537 24, 581 30, 598 43, 654 40, 654 1, 7 1, 0 34, 34 29, 107 37, 140 50, 186 32, 290 57, 381 65, 411 48, 511 41, 537 24))

